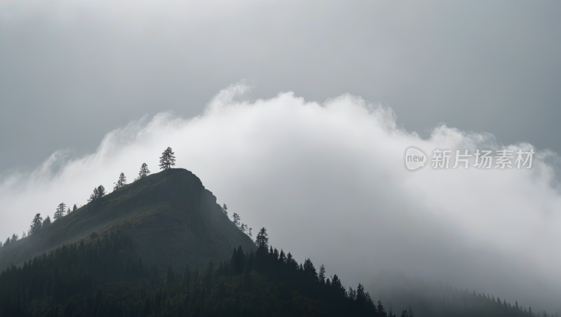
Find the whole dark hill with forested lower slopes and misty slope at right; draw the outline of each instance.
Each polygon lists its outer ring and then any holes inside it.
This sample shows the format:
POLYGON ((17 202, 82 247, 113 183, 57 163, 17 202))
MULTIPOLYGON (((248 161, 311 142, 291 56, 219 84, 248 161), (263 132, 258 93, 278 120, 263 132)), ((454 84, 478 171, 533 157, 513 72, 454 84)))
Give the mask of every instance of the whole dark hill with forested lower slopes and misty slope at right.
MULTIPOLYGON (((165 170, 0 248, 0 317, 411 316, 298 264, 264 228, 256 242, 198 177, 165 170)), ((417 317, 535 316, 475 292, 400 298, 417 317)))

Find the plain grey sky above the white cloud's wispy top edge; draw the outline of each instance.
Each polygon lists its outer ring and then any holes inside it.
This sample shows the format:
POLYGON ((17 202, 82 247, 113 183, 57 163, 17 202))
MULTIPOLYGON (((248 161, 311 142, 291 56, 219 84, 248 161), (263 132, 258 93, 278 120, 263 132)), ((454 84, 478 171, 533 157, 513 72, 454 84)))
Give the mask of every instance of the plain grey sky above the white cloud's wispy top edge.
POLYGON ((244 79, 254 98, 351 93, 425 137, 444 122, 560 152, 559 6, 3 1, 0 164, 90 153, 109 130, 144 114, 200 114, 244 79))

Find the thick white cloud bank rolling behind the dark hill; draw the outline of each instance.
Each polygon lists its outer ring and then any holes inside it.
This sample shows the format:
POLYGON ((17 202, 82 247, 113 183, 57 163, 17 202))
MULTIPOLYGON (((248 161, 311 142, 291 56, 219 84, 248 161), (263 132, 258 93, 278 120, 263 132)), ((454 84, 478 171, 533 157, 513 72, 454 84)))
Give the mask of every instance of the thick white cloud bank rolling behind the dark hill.
POLYGON ((0 233, 20 233, 61 201, 85 204, 95 186, 112 188, 121 172, 133 180, 144 162, 157 172, 169 146, 177 167, 200 177, 254 232, 266 227, 273 246, 325 264, 345 285, 374 289, 376 276, 403 274, 557 308, 561 198, 548 163, 556 154, 538 152, 530 170, 409 173, 402 160, 410 145, 429 152, 502 144, 445 125, 423 140, 398 127, 391 109, 352 95, 318 103, 289 92, 249 102, 247 90, 222 90, 190 119, 133 121, 88 156, 56 151, 32 173, 4 172, 0 233))

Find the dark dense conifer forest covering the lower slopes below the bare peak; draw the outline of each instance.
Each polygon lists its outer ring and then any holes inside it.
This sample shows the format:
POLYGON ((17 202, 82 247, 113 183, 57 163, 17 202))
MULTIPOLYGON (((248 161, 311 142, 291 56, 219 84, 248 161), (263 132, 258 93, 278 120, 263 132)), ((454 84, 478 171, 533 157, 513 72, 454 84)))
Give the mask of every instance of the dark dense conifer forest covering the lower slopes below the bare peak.
MULTIPOLYGON (((310 259, 298 264, 258 235, 201 271, 144 266, 123 234, 65 245, 0 275, 1 316, 386 316, 362 285, 347 291, 310 259)), ((393 313, 389 316, 396 316, 393 313)), ((400 316, 407 316, 402 311, 400 316)))

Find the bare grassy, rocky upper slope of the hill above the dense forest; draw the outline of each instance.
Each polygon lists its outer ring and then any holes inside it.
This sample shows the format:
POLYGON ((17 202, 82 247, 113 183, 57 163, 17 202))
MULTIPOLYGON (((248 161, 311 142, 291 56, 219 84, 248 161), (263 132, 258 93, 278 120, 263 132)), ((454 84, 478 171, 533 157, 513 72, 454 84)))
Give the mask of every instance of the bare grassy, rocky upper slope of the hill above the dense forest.
POLYGON ((145 264, 171 264, 177 269, 229 258, 238 245, 244 250, 253 248, 251 239, 222 213, 201 180, 176 168, 128 184, 50 227, 0 248, 0 270, 63 244, 96 243, 116 230, 133 238, 135 252, 145 264), (97 238, 92 237, 93 232, 97 238))

